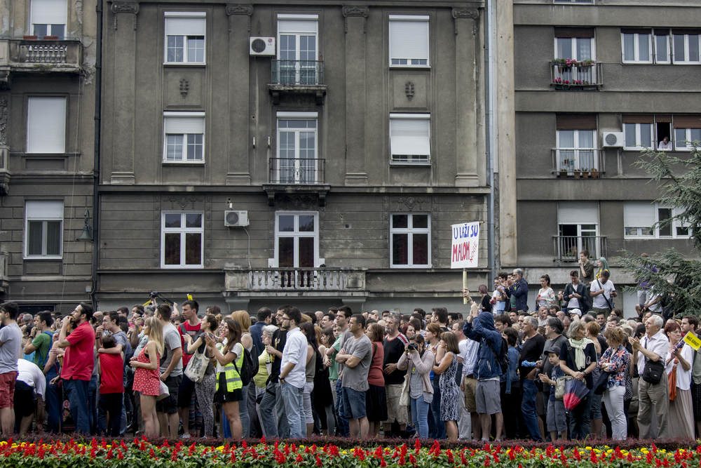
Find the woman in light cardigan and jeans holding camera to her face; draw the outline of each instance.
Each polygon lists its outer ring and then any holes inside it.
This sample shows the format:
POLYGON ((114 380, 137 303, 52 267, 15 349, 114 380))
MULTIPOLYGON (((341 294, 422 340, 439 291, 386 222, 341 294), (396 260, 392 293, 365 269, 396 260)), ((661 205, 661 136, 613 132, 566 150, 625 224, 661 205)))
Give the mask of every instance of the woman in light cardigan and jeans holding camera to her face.
POLYGON ((426 349, 423 336, 418 333, 409 338, 409 344, 397 362, 397 369, 409 369, 411 419, 419 439, 428 439, 428 412, 433 401, 430 373, 434 363, 435 355, 426 349))

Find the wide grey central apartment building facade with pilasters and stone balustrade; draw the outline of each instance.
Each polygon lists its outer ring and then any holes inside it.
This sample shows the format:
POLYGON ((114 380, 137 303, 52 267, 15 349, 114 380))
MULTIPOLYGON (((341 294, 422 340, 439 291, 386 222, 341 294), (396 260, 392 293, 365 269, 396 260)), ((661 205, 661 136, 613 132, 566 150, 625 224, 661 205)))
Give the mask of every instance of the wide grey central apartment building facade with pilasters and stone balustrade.
POLYGON ((98 306, 462 310, 451 225, 486 222, 491 190, 483 11, 112 1, 98 306))

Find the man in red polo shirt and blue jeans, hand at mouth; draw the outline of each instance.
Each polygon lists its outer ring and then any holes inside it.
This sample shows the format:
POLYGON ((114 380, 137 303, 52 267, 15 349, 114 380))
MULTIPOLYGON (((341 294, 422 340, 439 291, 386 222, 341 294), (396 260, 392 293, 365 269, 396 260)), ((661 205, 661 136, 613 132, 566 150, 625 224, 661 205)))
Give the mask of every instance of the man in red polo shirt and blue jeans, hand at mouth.
POLYGON ((81 302, 73 314, 63 318, 57 346, 66 348, 63 358, 61 378, 64 392, 68 395, 71 415, 76 422, 76 431, 90 434, 90 408, 88 408, 88 384, 93 375, 93 347, 95 330, 90 326, 93 307, 81 302), (75 329, 68 335, 68 328, 73 323, 75 329))

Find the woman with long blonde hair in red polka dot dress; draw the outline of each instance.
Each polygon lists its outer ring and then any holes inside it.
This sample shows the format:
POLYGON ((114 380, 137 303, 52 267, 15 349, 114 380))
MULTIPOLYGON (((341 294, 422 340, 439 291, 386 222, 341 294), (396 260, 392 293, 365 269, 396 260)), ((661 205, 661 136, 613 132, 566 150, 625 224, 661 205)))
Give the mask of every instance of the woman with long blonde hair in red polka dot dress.
POLYGON ((163 325, 156 317, 149 317, 144 322, 144 335, 149 342, 139 356, 132 357, 130 366, 135 368, 132 389, 141 392, 141 416, 144 419, 147 436, 158 436, 158 418, 156 417, 156 396, 161 389, 161 353, 163 353, 163 325))

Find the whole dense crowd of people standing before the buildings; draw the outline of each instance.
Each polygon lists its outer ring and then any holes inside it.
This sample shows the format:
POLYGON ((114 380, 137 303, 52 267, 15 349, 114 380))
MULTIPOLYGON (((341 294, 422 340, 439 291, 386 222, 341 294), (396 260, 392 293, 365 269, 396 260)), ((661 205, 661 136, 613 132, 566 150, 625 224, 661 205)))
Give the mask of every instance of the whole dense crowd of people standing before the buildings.
POLYGON ((476 301, 463 290, 463 312, 283 305, 250 316, 154 300, 112 312, 81 302, 62 317, 5 302, 2 434, 693 437, 701 356, 683 336, 697 316, 665 321, 644 291, 625 320, 610 276, 605 259, 598 270, 583 261, 554 293, 544 275, 533 312, 520 269, 476 301), (572 407, 573 380, 585 391, 572 407))

